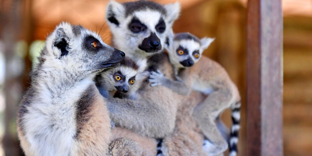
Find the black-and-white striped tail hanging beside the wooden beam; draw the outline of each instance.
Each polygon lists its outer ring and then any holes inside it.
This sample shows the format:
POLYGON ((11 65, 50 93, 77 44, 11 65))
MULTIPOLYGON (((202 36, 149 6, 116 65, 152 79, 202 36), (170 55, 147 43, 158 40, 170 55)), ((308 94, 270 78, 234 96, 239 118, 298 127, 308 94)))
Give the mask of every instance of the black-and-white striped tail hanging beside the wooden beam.
POLYGON ((229 144, 229 156, 236 156, 237 154, 237 143, 238 143, 238 133, 240 129, 241 121, 241 101, 233 104, 231 106, 232 112, 232 127, 230 133, 230 144, 229 144))

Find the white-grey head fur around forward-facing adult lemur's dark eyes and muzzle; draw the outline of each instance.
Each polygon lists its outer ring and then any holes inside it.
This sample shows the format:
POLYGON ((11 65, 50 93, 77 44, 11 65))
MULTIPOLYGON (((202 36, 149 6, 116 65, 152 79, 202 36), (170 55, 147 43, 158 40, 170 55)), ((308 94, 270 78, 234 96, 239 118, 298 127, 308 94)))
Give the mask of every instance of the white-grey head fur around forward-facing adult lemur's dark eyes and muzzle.
POLYGON ((121 51, 126 51, 126 55, 133 59, 146 59, 147 56, 162 52, 163 46, 154 53, 147 53, 142 51, 139 45, 151 33, 155 33, 160 39, 160 44, 164 45, 166 35, 170 32, 173 22, 178 18, 179 12, 180 4, 178 2, 162 6, 158 3, 144 0, 123 4, 111 0, 106 8, 105 18, 109 22, 110 30, 113 33, 114 45, 121 51), (166 29, 162 33, 155 30, 155 26, 161 17, 166 25, 166 29), (131 32, 129 23, 133 18, 142 22, 147 29, 139 33, 131 32))

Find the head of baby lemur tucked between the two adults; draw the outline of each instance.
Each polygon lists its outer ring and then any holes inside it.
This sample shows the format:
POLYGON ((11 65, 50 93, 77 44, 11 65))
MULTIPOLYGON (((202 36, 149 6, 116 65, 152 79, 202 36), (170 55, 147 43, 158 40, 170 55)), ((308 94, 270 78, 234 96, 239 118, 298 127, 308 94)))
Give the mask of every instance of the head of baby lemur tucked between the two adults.
POLYGON ((146 60, 135 62, 129 57, 125 57, 119 67, 108 70, 102 73, 101 76, 104 78, 103 82, 106 83, 109 90, 113 90, 112 87, 114 87, 120 93, 127 93, 135 85, 136 75, 142 72, 146 66, 146 60))

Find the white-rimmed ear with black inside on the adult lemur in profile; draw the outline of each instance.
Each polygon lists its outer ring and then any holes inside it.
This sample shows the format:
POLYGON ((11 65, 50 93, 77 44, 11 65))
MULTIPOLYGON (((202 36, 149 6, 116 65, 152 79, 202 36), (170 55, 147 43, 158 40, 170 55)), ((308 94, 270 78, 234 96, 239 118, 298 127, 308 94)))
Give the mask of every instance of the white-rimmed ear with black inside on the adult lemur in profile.
POLYGON ((71 25, 69 23, 62 22, 47 39, 47 48, 51 47, 53 55, 57 58, 66 56, 70 49, 69 41, 72 35, 71 25))

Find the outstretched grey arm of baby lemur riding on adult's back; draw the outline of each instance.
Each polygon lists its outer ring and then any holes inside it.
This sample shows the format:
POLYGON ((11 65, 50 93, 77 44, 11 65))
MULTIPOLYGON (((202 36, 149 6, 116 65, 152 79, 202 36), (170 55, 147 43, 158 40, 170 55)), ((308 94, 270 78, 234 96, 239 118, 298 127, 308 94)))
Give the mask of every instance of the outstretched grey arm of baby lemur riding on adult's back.
MULTIPOLYGON (((186 77, 187 76, 184 76, 184 74, 182 74, 182 78, 186 77)), ((151 82, 152 87, 157 85, 163 85, 180 95, 189 95, 192 91, 191 84, 188 83, 191 81, 187 79, 181 79, 180 77, 177 77, 177 80, 167 79, 159 70, 157 70, 157 72, 151 72, 151 75, 149 76, 149 82, 151 82)))

